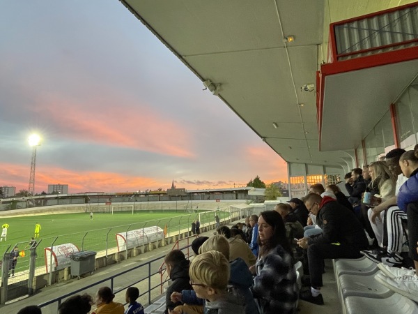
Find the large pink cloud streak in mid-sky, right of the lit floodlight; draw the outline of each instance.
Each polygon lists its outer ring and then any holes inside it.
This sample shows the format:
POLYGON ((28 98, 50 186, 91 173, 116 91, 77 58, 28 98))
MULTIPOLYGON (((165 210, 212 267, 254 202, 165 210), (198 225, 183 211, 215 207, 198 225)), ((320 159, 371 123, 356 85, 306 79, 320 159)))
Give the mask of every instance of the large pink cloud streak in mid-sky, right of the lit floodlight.
POLYGON ((193 158, 192 132, 150 105, 124 95, 77 98, 42 95, 31 107, 42 119, 57 121, 60 135, 79 142, 141 149, 157 154, 193 158), (123 106, 118 106, 123 103, 123 106))

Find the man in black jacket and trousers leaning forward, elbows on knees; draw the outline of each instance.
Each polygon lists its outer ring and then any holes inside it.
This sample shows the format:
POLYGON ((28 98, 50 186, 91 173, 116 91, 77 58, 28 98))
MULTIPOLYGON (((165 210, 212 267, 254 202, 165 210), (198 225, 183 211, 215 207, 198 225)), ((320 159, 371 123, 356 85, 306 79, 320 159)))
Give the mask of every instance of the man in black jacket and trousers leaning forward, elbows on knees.
POLYGON ((323 261, 325 258, 359 258, 360 251, 369 246, 366 234, 359 221, 346 207, 332 197, 321 197, 309 193, 304 204, 311 214, 317 216, 316 222, 323 232, 309 238, 302 238, 297 244, 308 250, 311 290, 302 292, 300 299, 324 304, 320 287, 323 285, 323 261))

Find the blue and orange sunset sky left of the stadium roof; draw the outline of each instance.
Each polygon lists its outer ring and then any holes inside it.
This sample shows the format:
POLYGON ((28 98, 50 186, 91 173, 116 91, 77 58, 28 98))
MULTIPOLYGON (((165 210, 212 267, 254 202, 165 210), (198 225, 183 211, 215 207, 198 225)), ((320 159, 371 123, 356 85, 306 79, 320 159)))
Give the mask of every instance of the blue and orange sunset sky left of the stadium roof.
POLYGON ((286 163, 117 0, 1 1, 0 186, 228 188, 286 163))

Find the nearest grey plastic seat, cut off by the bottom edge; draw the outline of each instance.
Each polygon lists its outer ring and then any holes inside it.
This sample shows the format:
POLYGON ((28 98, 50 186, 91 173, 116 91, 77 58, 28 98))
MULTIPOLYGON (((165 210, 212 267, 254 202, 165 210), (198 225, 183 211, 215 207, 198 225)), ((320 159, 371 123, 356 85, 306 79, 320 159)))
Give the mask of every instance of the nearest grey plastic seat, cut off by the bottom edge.
POLYGON ((414 301, 394 293, 386 299, 369 297, 346 297, 344 299, 345 311, 348 314, 381 314, 381 313, 408 313, 418 314, 418 306, 414 301))

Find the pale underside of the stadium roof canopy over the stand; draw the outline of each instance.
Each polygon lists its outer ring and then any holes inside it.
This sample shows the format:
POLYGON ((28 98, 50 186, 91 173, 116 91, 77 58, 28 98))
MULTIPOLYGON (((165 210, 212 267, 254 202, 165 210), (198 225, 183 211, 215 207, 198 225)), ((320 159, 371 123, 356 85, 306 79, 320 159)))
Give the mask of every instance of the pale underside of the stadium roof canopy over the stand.
POLYGON ((395 78, 388 81, 382 73, 361 70, 341 77, 340 84, 330 84, 334 87, 327 89, 328 97, 338 101, 353 96, 355 101, 343 114, 323 112, 327 132, 321 135, 321 148, 326 151, 320 151, 316 71, 327 60, 329 25, 413 1, 121 2, 202 82, 212 83, 215 94, 284 160, 344 165, 353 160, 353 145, 377 123, 400 84, 392 84, 395 78), (288 36, 294 40, 286 42, 288 36), (385 89, 389 95, 380 97, 366 112, 362 110, 370 105, 376 90, 368 89, 369 94, 366 89, 354 94, 345 90, 353 82, 361 86, 364 80, 373 80, 371 86, 385 89), (308 91, 302 88, 305 85, 308 91), (373 110, 378 114, 373 115, 373 110), (371 114, 372 119, 357 121, 350 112, 371 114))

